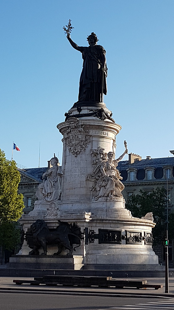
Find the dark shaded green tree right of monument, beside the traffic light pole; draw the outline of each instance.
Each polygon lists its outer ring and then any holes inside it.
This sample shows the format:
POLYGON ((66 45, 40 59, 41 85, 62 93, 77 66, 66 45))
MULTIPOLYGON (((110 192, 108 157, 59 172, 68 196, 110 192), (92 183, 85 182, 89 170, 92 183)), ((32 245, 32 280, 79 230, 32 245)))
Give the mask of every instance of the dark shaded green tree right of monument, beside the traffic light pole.
POLYGON ((126 204, 126 209, 130 210, 132 215, 137 218, 152 212, 156 223, 152 230, 154 245, 162 242, 166 232, 166 190, 163 187, 157 187, 151 193, 140 190, 140 194, 131 196, 126 204))

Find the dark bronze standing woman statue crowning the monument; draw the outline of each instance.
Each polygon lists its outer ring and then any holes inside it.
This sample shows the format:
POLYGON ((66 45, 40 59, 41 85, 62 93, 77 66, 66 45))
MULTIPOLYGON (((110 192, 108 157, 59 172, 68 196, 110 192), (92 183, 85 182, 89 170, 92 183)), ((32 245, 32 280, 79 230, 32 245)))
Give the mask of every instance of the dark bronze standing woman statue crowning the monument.
POLYGON ((87 38, 89 47, 78 46, 72 41, 69 33, 67 33, 67 39, 72 47, 82 53, 83 58, 78 102, 103 102, 103 94, 107 94, 105 49, 97 44, 98 38, 94 32, 87 38))

